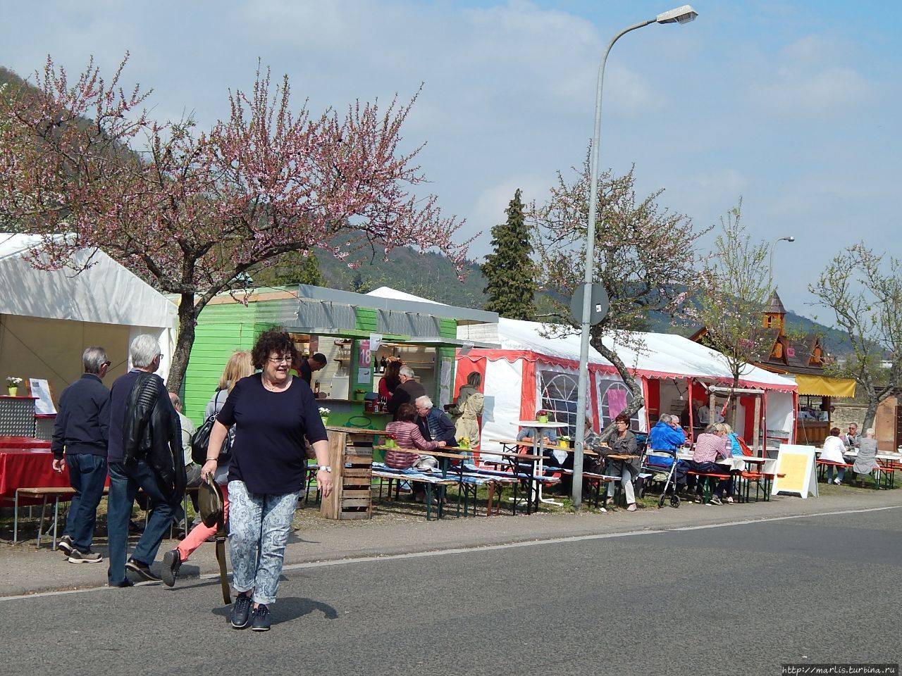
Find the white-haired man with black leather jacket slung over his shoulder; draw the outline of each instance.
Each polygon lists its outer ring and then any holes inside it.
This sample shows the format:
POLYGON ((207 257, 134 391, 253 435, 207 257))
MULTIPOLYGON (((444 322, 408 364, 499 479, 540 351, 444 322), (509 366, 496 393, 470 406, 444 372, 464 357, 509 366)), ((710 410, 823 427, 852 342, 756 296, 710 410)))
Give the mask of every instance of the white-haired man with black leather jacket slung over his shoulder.
POLYGON ((129 347, 133 369, 116 379, 110 391, 110 492, 106 528, 109 534, 110 587, 130 587, 126 569, 141 580, 159 581, 151 564, 172 519, 184 516, 185 489, 179 418, 169 393, 155 371, 160 343, 152 335, 137 336, 129 347), (131 558, 125 554, 134 496, 143 490, 153 511, 131 558))

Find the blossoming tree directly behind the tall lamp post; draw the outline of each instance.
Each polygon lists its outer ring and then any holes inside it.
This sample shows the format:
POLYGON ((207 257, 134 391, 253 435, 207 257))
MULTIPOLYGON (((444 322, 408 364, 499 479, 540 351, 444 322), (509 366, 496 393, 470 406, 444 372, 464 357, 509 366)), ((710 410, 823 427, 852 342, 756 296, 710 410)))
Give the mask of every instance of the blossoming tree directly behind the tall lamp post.
MULTIPOLYGON (((565 324, 546 324, 552 335, 575 333, 579 324, 569 316, 568 302, 584 279, 584 242, 589 222, 589 157, 575 178, 560 173, 545 206, 533 205, 530 219, 536 228, 536 251, 540 256, 541 282, 559 294, 557 316, 565 324)), ((680 214, 662 209, 657 199, 662 191, 638 198, 633 171, 614 176, 606 171, 598 182, 595 224, 594 283, 601 284, 610 298, 608 314, 592 327, 591 344, 617 369, 630 390, 625 411, 631 416, 645 405, 637 364, 627 364, 618 345, 638 349, 644 343, 639 332, 646 328, 649 313, 680 315, 686 290, 699 286, 700 273, 695 245, 706 231, 695 230, 680 214)), ((603 437, 612 434, 612 426, 603 437)))

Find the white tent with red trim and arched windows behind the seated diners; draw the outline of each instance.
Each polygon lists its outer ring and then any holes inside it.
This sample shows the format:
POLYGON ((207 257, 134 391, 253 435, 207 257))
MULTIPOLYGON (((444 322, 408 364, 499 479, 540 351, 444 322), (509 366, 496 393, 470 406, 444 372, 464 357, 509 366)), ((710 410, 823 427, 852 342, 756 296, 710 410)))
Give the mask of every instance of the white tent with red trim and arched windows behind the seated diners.
MULTIPOLYGON (((576 381, 579 336, 545 337, 542 324, 500 319, 498 324, 474 324, 458 328, 461 340, 499 343, 498 350, 472 350, 457 357, 456 387, 472 371, 483 375, 485 409, 482 447, 497 449, 489 439, 510 439, 517 434, 517 420, 531 420, 538 408, 551 409, 558 422, 573 432, 576 416, 576 381)), ((679 413, 689 398, 704 400, 704 385, 730 385, 732 376, 723 357, 709 348, 669 333, 638 333, 641 348, 618 344, 616 352, 641 379, 648 408, 634 416, 634 428, 648 430, 660 413, 679 413), (650 418, 650 421, 649 421, 650 418)), ((630 341, 635 345, 635 340, 630 341)), ((596 429, 608 424, 626 407, 630 393, 612 364, 590 348, 590 397, 586 415, 596 429)), ((764 391, 763 429, 773 440, 792 440, 795 429, 796 383, 758 367, 743 369, 742 388, 764 391)), ((742 402, 742 399, 740 399, 742 402)), ((752 410, 741 409, 738 432, 753 419, 752 410)))

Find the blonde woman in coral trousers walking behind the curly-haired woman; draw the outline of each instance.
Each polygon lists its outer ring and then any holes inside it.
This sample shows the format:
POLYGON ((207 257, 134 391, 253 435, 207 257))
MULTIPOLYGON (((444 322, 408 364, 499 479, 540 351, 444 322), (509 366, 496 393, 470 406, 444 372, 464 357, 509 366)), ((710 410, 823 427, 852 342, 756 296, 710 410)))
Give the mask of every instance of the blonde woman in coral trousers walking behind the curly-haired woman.
MULTIPOLYGON (((210 397, 210 403, 207 404, 207 410, 204 411, 204 419, 210 416, 217 416, 219 412, 226 406, 226 399, 229 393, 235 388, 238 380, 247 378, 253 373, 253 364, 251 363, 251 353, 246 350, 239 350, 229 357, 226 363, 226 369, 219 377, 219 386, 216 392, 210 397)), ((212 453, 211 453, 212 455, 212 453)), ((228 520, 228 467, 226 462, 222 465, 217 463, 216 474, 213 480, 219 484, 219 488, 223 492, 223 520, 228 520)), ((179 577, 179 568, 181 564, 188 561, 189 556, 194 553, 200 544, 207 542, 207 538, 216 534, 216 525, 207 526, 202 523, 195 525, 191 532, 179 543, 179 546, 170 552, 163 554, 163 584, 168 587, 175 585, 175 580, 179 577)))

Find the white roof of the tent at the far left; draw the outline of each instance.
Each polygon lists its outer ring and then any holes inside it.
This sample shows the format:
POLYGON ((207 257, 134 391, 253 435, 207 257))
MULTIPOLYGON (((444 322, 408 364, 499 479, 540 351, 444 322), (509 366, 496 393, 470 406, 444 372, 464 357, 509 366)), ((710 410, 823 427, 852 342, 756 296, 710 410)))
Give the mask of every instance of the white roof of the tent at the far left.
POLYGON ((78 267, 34 269, 23 256, 41 246, 36 235, 0 233, 0 314, 68 319, 95 324, 172 328, 178 309, 156 289, 103 251, 83 249, 78 267))

